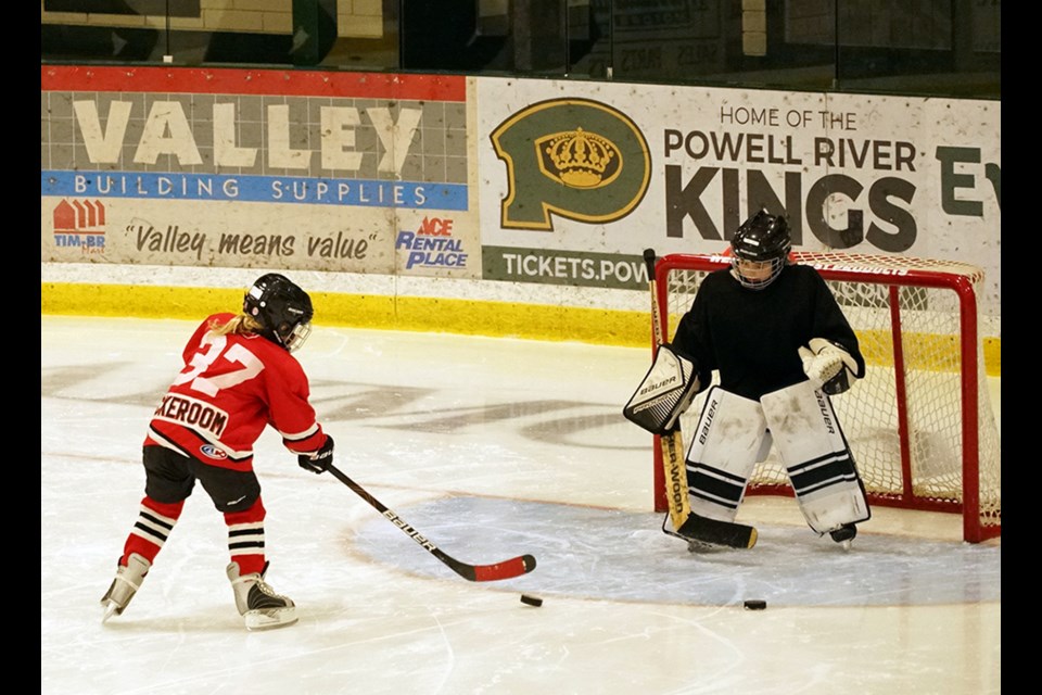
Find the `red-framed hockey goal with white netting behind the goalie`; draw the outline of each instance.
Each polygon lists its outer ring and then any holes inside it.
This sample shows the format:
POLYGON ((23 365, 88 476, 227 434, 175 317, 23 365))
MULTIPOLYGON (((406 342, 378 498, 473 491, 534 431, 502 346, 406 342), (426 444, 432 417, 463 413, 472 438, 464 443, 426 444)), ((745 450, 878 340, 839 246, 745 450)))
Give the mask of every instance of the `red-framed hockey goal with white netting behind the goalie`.
MULTIPOLYGON (((857 333, 865 378, 833 399, 869 501, 963 517, 963 539, 1002 534, 1002 453, 991 409, 977 294, 980 268, 951 261, 800 252, 857 333)), ((672 337, 707 274, 723 255, 670 254, 656 264, 662 334, 672 337)), ((652 354, 655 345, 652 344, 652 354)), ((704 394, 682 418, 695 431, 704 394)), ((657 439, 657 438, 656 438, 657 439)), ((655 509, 668 508, 661 450, 655 451, 655 509)), ((772 451, 747 494, 791 495, 772 451)))

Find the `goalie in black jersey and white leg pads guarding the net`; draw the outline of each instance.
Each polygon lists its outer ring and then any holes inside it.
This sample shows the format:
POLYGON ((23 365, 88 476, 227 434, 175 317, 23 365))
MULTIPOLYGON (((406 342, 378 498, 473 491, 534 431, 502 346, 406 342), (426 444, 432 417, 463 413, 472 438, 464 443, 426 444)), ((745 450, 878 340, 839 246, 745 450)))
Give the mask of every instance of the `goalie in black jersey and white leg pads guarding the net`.
POLYGON ((792 264, 791 247, 785 217, 746 220, 732 267, 706 277, 673 337, 696 389, 719 372, 686 456, 690 506, 734 522, 773 444, 811 529, 850 547, 871 513, 829 396, 863 377, 865 362, 825 280, 792 264))

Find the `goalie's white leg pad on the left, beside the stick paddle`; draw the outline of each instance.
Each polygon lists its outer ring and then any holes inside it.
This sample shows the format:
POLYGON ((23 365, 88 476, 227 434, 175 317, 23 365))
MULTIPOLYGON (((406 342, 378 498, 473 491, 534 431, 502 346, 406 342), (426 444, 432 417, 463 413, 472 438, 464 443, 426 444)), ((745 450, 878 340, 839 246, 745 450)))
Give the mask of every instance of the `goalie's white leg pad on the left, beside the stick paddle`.
POLYGON ((691 511, 734 521, 746 483, 762 458, 766 420, 760 404, 720 387, 706 397, 687 452, 691 511))

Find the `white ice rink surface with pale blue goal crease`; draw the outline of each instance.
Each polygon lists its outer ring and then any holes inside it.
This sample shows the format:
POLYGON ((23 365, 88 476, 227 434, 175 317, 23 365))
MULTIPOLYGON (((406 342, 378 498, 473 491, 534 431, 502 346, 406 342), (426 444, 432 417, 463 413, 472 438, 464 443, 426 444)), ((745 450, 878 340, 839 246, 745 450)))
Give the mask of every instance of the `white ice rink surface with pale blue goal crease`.
POLYGON ((300 622, 243 628, 199 489, 102 624, 144 427, 192 328, 41 317, 41 693, 1001 692, 1001 541, 877 508, 843 553, 791 500, 749 498, 753 549, 688 554, 651 511, 650 438, 621 416, 646 351, 571 343, 317 327, 298 353, 345 472, 453 557, 531 553, 531 574, 457 577, 268 432, 268 579, 300 622))

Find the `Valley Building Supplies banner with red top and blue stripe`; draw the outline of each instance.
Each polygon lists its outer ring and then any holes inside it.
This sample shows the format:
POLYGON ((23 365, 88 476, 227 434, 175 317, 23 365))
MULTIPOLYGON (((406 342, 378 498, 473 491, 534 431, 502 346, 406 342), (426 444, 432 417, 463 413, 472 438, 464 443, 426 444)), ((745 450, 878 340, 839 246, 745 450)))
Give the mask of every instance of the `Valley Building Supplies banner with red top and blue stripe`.
POLYGON ((479 277, 468 80, 41 67, 43 262, 479 277))

